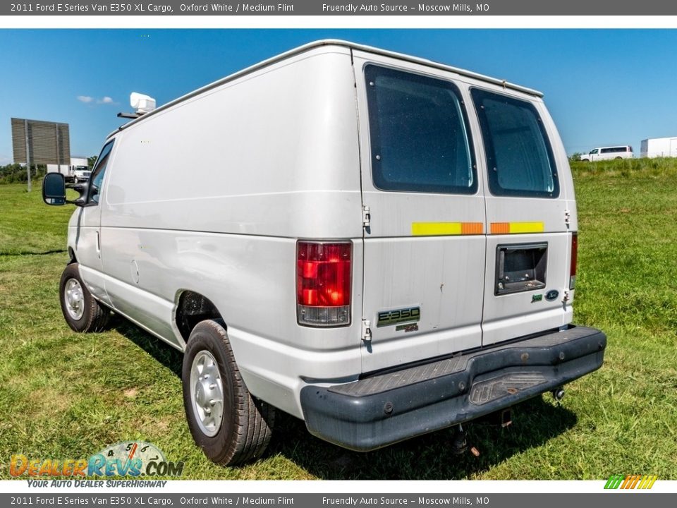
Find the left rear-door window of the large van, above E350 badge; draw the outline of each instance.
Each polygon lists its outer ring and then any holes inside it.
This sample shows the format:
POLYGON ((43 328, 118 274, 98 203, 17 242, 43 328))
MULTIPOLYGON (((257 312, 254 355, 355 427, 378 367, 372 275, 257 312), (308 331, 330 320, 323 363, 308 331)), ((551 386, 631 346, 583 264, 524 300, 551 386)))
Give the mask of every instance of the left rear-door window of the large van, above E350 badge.
POLYGON ((467 118, 453 83, 366 66, 372 178, 382 191, 477 191, 467 118))

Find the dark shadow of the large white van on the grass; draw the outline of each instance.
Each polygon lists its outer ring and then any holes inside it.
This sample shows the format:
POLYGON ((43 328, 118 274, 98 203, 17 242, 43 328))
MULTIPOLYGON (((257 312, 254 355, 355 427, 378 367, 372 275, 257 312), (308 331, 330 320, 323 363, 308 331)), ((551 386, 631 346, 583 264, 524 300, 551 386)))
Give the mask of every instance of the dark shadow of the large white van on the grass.
MULTIPOLYGON (((119 316, 112 318, 111 327, 181 378, 183 356, 179 351, 119 316)), ((539 447, 576 424, 575 413, 543 397, 513 407, 512 418, 507 428, 489 418, 464 425, 468 451, 461 455, 451 451, 453 429, 360 453, 319 440, 308 433, 303 421, 277 411, 272 442, 262 459, 284 456, 323 480, 459 480, 473 478, 515 454, 539 447), (480 456, 471 454, 471 447, 480 456)))

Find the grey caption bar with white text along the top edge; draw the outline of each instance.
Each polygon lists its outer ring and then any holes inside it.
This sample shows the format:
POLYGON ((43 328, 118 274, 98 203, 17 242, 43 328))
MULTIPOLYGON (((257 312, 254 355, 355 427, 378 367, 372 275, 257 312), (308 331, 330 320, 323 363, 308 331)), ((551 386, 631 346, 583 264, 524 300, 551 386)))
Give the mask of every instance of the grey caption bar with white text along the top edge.
POLYGON ((390 0, 360 3, 298 0, 281 4, 177 0, 132 3, 40 1, 5 3, 1 16, 669 16, 664 0, 390 0))

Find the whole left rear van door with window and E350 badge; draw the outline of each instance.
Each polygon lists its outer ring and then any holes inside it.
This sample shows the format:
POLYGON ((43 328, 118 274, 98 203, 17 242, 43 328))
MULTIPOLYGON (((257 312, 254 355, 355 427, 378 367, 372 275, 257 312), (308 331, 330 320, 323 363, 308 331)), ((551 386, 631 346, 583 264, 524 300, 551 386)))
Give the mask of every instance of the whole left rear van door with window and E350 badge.
POLYGON ((449 73, 353 56, 369 373, 481 346, 486 220, 467 106, 449 73))

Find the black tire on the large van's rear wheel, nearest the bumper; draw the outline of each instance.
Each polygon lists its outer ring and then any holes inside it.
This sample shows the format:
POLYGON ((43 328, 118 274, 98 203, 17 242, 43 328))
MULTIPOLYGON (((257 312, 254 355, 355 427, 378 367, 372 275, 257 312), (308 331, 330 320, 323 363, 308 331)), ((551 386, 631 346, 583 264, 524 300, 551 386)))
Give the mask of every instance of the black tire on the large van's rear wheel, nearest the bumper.
MULTIPOLYGON (((205 320, 193 328, 183 356, 182 379, 183 406, 190 433, 210 460, 224 466, 235 466, 262 456, 272 436, 275 409, 264 401, 254 399, 249 393, 240 376, 226 328, 221 320, 205 320), (197 397, 191 396, 191 371, 193 361, 198 355, 207 358, 205 351, 218 366, 223 404, 220 424, 215 425, 211 421, 209 428, 205 426, 203 430, 203 424, 200 423, 202 420, 198 422, 200 415, 197 414, 197 411, 203 410, 197 409, 199 402, 193 400, 197 397)), ((200 387, 197 387, 199 384, 198 381, 193 387, 193 394, 196 396, 200 392, 200 387)), ((203 387, 202 394, 205 392, 207 389, 203 387)))

